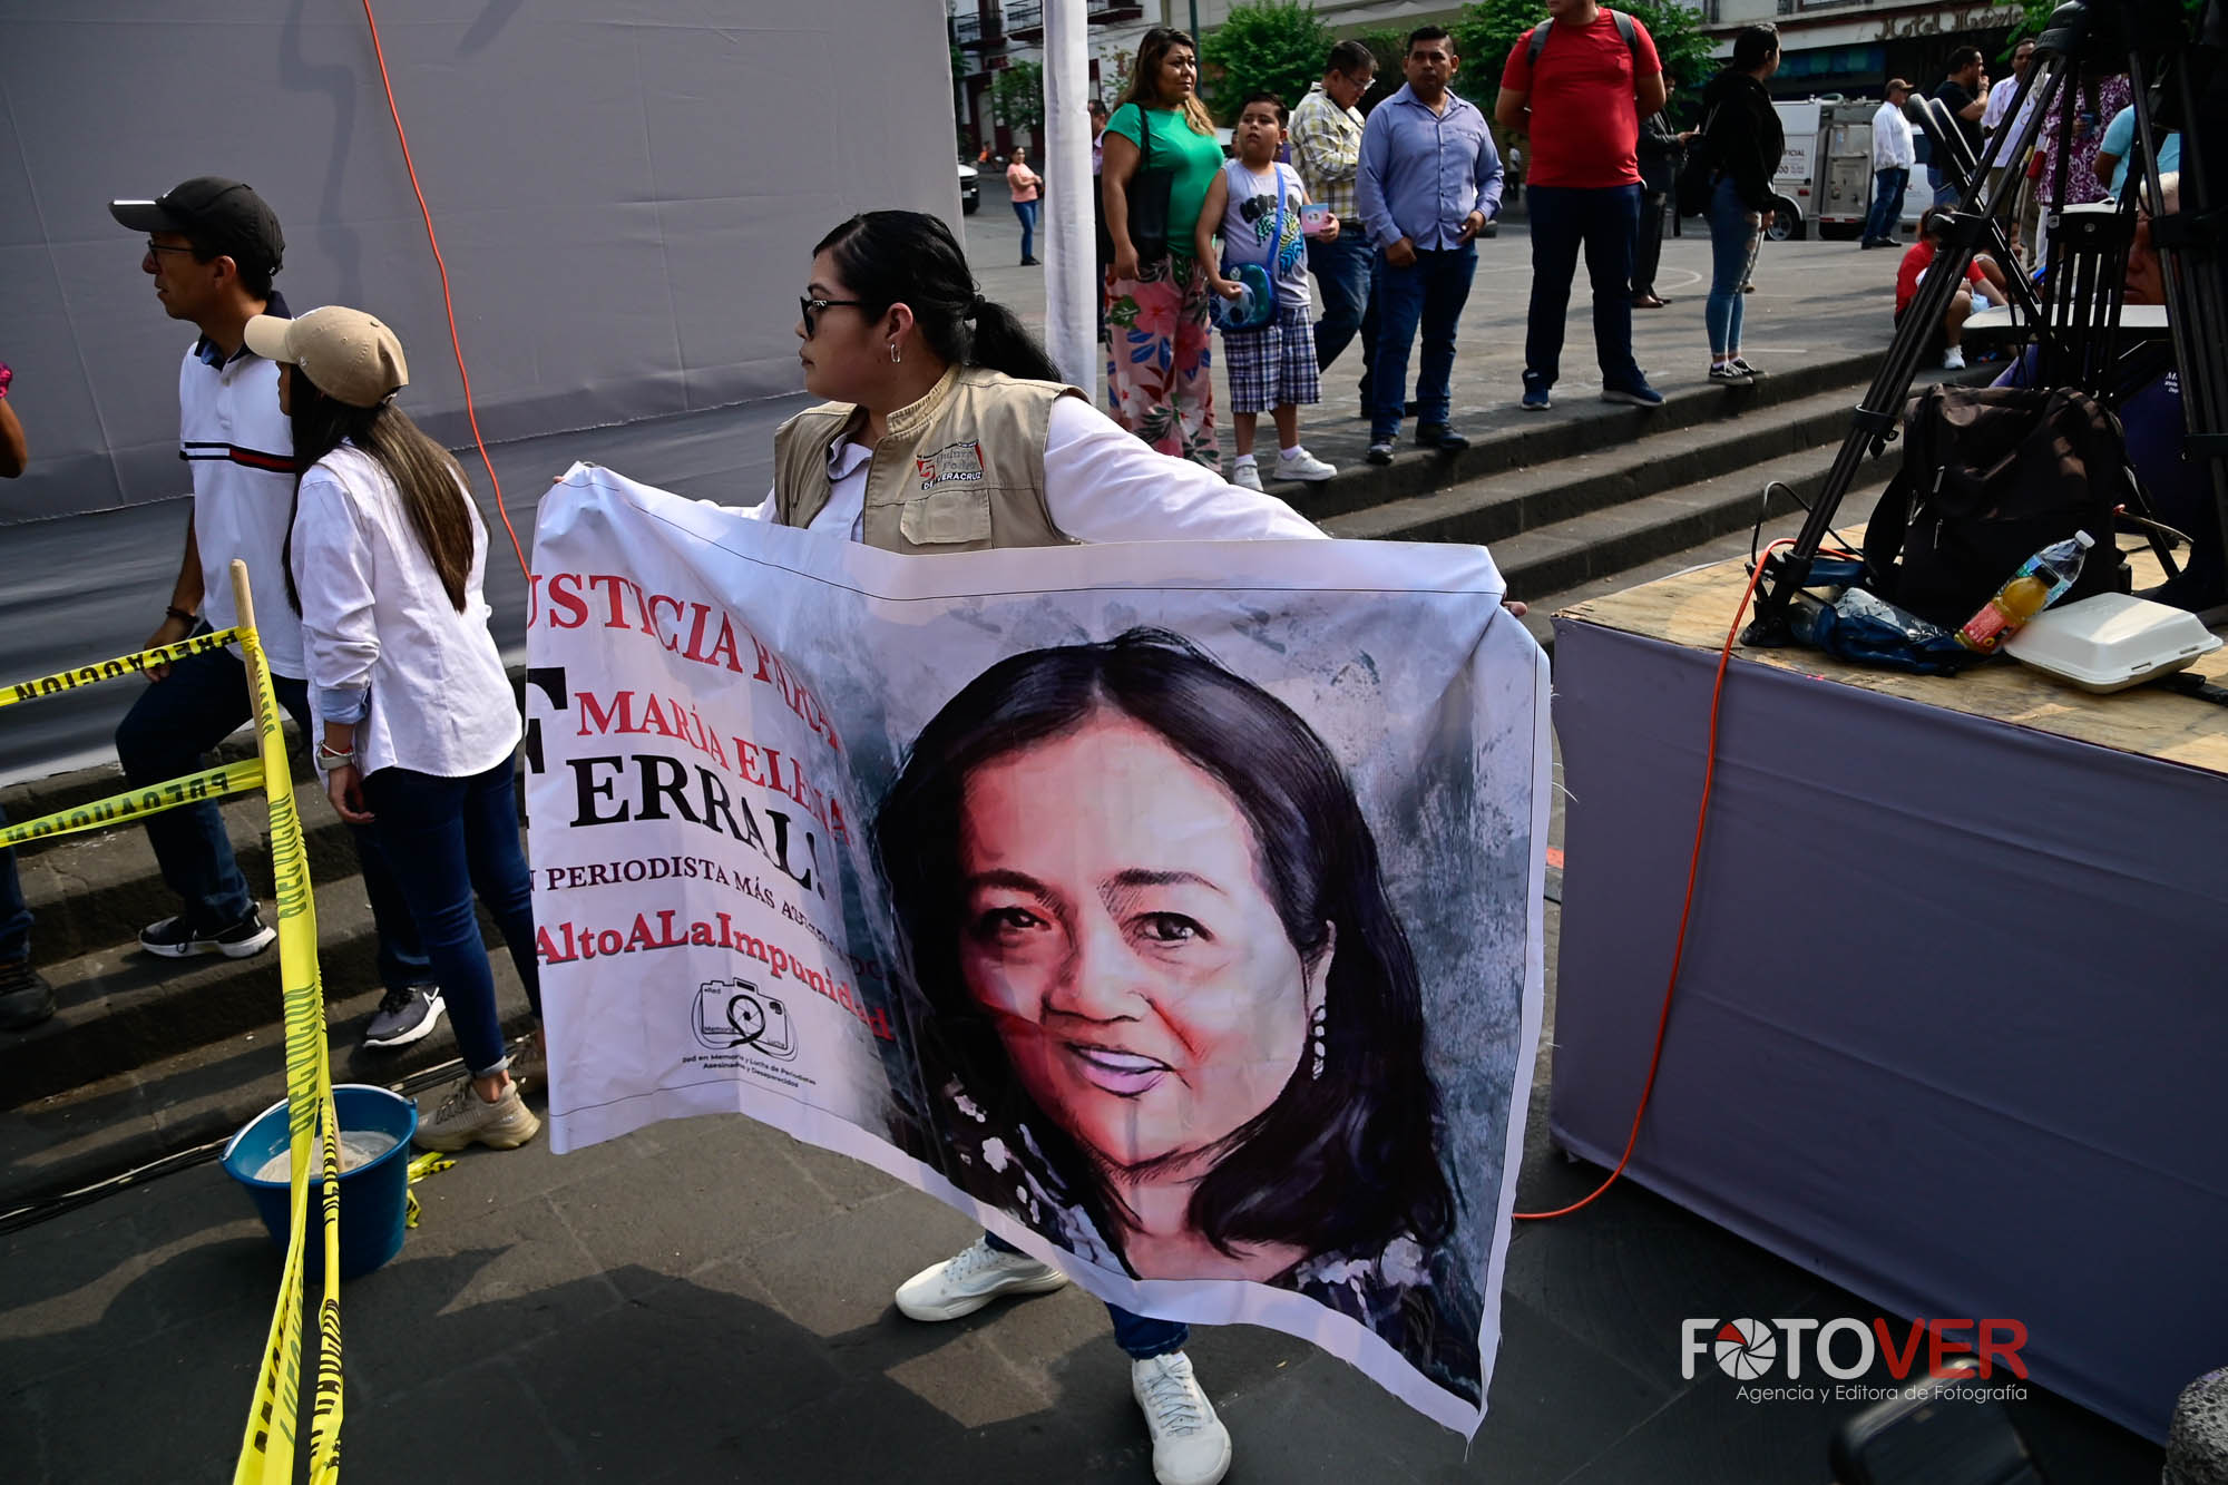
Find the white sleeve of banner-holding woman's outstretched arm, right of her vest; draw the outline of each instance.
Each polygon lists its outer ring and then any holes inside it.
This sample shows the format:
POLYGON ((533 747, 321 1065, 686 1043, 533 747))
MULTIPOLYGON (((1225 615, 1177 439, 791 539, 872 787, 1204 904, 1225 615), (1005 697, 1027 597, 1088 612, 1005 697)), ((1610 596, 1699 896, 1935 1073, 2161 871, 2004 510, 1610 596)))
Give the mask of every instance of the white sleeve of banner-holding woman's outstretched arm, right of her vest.
POLYGON ((1176 459, 1081 397, 1052 404, 1045 506, 1078 542, 1288 542, 1323 533, 1274 495, 1176 459))

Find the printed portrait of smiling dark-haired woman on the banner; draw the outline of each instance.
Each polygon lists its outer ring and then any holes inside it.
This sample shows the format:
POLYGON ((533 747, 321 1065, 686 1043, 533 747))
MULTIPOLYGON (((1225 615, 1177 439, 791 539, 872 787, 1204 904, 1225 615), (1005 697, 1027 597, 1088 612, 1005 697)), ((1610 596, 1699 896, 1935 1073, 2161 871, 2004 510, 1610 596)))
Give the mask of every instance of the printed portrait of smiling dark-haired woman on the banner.
POLYGON ((1323 740, 1179 635, 1000 660, 873 823, 925 1106, 1063 1249, 1306 1293, 1475 1400, 1415 957, 1323 740))

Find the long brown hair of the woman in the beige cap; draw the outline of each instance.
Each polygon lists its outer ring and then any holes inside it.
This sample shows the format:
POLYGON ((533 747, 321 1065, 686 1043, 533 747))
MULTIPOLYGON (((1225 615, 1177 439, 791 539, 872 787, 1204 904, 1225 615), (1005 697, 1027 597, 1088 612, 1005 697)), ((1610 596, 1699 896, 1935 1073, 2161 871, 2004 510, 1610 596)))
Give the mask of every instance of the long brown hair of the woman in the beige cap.
POLYGON ((285 598, 301 613, 294 591, 294 515, 301 511, 301 477, 343 441, 363 450, 394 484, 410 517, 410 531, 441 578, 448 602, 463 613, 463 584, 472 573, 472 506, 463 468, 410 421, 392 401, 352 408, 328 397, 299 366, 294 377, 294 511, 285 517, 285 598))

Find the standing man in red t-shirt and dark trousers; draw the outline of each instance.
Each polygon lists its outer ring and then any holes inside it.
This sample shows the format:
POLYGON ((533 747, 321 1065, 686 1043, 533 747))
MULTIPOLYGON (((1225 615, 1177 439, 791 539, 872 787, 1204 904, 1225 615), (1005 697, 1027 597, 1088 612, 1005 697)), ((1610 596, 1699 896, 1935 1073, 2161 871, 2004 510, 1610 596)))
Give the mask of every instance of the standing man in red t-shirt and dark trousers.
POLYGON ((1533 297, 1524 332, 1524 408, 1544 412, 1562 366, 1577 250, 1593 279, 1593 350, 1602 401, 1660 408, 1633 361, 1633 234, 1640 230, 1640 120, 1664 105, 1655 38, 1595 0, 1546 0, 1517 38, 1493 118, 1528 138, 1533 297), (1546 31, 1533 45, 1537 31, 1546 31))

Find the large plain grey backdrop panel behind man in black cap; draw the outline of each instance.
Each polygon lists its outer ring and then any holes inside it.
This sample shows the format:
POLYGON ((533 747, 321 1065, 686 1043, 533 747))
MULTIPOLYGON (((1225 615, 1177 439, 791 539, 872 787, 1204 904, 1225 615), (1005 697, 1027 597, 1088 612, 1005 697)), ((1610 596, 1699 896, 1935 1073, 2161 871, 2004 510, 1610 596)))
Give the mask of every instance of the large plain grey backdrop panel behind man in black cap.
MULTIPOLYGON (((936 0, 372 9, 490 441, 795 392, 811 243, 864 207, 958 223, 936 0)), ((254 185, 285 225, 287 301, 388 319, 412 415, 468 439, 354 0, 0 0, 0 359, 38 453, 0 524, 187 488, 194 332, 107 201, 198 174, 254 185)))

